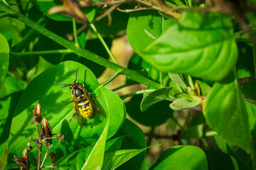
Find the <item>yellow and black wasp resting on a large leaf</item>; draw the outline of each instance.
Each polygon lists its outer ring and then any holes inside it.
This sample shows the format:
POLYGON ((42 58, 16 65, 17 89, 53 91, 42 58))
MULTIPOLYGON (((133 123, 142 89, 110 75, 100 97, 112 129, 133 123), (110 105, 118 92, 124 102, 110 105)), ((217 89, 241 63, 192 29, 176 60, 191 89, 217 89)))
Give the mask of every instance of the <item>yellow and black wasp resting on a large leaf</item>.
MULTIPOLYGON (((56 84, 55 86, 58 85, 65 85, 65 86, 70 86, 71 90, 71 96, 72 98, 69 101, 62 101, 62 102, 70 102, 70 101, 75 101, 74 103, 74 111, 73 115, 70 118, 70 121, 72 120, 74 113, 76 111, 77 119, 78 119, 78 124, 82 127, 82 117, 89 119, 92 117, 93 113, 93 108, 99 115, 102 115, 102 111, 97 104, 92 101, 92 98, 90 98, 90 95, 92 94, 88 93, 85 89, 85 84, 81 84, 77 82, 78 78, 78 69, 75 74, 75 81, 71 84, 56 84)), ((99 97, 99 96, 94 96, 94 97, 99 97)))

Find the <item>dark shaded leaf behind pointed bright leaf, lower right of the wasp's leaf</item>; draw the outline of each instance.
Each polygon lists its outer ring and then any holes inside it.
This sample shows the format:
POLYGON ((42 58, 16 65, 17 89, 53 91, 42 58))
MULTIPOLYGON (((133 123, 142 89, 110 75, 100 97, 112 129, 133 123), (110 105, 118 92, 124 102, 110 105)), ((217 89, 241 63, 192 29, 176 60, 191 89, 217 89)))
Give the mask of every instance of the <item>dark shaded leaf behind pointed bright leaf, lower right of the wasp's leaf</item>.
MULTIPOLYGON (((146 140, 142 130, 132 123, 132 121, 125 119, 124 124, 117 132, 117 135, 125 136, 121 149, 144 149, 146 147, 146 140)), ((128 170, 128 169, 139 169, 144 158, 146 151, 137 154, 136 157, 129 159, 117 169, 128 170)))

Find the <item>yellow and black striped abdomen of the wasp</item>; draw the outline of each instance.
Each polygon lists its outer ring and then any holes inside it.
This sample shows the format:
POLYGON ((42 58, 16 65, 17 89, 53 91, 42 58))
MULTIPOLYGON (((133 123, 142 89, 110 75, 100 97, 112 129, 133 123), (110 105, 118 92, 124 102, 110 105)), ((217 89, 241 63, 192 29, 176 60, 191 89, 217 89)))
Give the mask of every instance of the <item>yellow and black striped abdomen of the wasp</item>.
POLYGON ((92 117, 92 104, 85 98, 82 101, 78 101, 78 109, 82 117, 89 119, 92 117))

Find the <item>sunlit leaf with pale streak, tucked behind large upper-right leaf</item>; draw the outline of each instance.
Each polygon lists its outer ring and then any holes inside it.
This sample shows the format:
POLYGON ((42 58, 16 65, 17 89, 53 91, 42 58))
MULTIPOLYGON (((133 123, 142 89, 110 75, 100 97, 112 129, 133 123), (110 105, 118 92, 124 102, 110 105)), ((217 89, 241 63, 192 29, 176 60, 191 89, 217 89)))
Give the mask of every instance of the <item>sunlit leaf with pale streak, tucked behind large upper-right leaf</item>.
POLYGON ((161 23, 162 17, 157 11, 144 10, 130 13, 127 39, 135 52, 144 49, 161 35, 161 23))

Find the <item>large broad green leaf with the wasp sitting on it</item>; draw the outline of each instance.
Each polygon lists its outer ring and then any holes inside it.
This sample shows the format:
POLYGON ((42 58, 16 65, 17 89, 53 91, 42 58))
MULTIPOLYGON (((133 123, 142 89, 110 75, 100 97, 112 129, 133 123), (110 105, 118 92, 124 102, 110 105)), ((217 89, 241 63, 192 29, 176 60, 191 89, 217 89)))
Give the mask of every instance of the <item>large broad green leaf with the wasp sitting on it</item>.
MULTIPOLYGON (((53 133, 61 132, 65 135, 65 140, 61 143, 53 140, 54 147, 50 148, 50 152, 55 152, 58 159, 81 147, 95 144, 105 128, 109 114, 110 127, 107 139, 112 137, 122 125, 126 113, 124 103, 119 96, 100 86, 90 69, 77 62, 60 63, 33 79, 23 92, 11 125, 10 157, 22 153, 22 150, 26 148, 28 137, 37 138, 36 126, 29 123, 36 103, 40 103, 43 107, 43 117, 50 123, 53 133), (85 89, 94 96, 100 95, 97 98, 92 97, 92 100, 100 106, 104 115, 100 117, 95 112, 93 118, 83 119, 85 124, 83 128, 80 128, 75 118, 68 123, 73 113, 74 103, 61 103, 61 101, 71 98, 69 87, 55 86, 59 83, 70 84, 73 82, 75 70, 78 67, 78 81, 85 83, 85 89)), ((30 152, 30 157, 36 156, 35 150, 30 152)))

